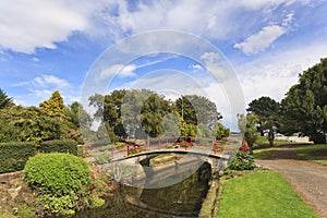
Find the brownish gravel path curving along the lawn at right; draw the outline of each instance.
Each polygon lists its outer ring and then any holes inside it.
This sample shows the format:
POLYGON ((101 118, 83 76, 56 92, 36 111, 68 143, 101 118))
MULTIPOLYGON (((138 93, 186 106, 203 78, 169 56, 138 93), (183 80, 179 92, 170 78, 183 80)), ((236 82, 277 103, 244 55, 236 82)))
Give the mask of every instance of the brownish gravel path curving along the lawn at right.
POLYGON ((327 167, 301 160, 295 148, 281 147, 262 167, 278 170, 320 217, 327 218, 327 167))

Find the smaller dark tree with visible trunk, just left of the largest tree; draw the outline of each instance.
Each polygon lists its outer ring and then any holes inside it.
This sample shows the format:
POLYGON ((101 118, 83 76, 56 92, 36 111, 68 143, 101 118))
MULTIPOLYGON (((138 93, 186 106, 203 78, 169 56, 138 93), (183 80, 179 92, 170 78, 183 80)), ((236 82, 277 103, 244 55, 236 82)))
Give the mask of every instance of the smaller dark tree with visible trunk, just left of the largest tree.
POLYGON ((279 125, 279 104, 267 97, 263 96, 258 99, 254 99, 249 104, 247 111, 254 113, 258 118, 258 131, 264 136, 264 130, 268 130, 268 141, 270 146, 274 146, 275 129, 279 125))

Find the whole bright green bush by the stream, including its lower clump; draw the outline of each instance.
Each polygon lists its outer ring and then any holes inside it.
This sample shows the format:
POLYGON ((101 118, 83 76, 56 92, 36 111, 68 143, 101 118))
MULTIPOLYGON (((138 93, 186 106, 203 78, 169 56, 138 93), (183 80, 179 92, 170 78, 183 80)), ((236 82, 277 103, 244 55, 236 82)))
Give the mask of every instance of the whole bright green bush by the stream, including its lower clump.
POLYGON ((73 214, 90 184, 87 164, 70 154, 38 154, 28 159, 24 173, 24 180, 38 190, 37 205, 55 214, 73 214))

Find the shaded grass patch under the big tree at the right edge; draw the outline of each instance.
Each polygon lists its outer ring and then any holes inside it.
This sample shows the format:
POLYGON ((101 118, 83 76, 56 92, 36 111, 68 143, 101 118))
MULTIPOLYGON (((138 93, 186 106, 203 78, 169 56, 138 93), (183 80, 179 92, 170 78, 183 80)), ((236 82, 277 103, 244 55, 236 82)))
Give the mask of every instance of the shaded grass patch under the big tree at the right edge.
POLYGON ((327 166, 327 145, 305 145, 296 147, 296 155, 305 160, 327 166))

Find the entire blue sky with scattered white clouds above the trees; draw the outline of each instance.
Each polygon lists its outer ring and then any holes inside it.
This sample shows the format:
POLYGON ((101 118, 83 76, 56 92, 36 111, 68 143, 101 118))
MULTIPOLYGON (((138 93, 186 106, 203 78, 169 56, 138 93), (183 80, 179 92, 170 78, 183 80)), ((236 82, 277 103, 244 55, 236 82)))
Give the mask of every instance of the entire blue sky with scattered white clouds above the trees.
POLYGON ((0 88, 23 106, 57 89, 66 105, 85 87, 190 89, 234 125, 234 98, 280 101, 327 57, 326 11, 325 0, 0 0, 0 88))

